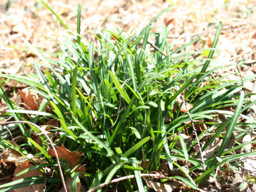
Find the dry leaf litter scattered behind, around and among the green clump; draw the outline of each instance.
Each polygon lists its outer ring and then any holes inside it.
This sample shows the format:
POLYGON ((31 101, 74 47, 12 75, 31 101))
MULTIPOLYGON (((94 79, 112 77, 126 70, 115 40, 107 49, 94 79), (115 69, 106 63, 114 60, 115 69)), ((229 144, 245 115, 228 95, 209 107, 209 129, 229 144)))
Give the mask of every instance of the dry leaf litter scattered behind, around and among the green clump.
MULTIPOLYGON (((71 17, 70 15, 72 15, 72 10, 76 9, 77 2, 78 1, 60 1, 51 4, 51 6, 53 6, 55 10, 59 11, 59 14, 63 13, 62 19, 64 21, 67 21, 70 18, 70 21, 68 23, 71 30, 74 30, 76 27, 76 18, 71 17)), ((201 41, 205 42, 205 47, 210 47, 212 44, 214 33, 213 27, 210 27, 210 24, 214 26, 217 21, 223 20, 222 34, 218 43, 218 49, 220 49, 221 51, 218 55, 214 55, 214 58, 217 59, 217 62, 226 63, 226 65, 238 61, 254 60, 254 62, 244 61, 244 66, 241 67, 241 74, 243 77, 255 74, 256 5, 254 1, 250 1, 249 3, 244 3, 244 1, 227 1, 227 6, 224 4, 220 5, 217 1, 197 1, 193 2, 192 4, 188 3, 187 1, 173 2, 177 4, 177 7, 171 12, 164 14, 164 17, 157 20, 154 25, 159 26, 163 23, 166 26, 172 25, 171 33, 169 34, 169 36, 171 41, 175 39, 175 41, 179 42, 176 46, 179 46, 179 44, 183 44, 185 42, 184 39, 186 34, 189 33, 191 37, 195 35, 201 35, 201 41), (198 9, 198 7, 200 8, 198 9), (251 7, 252 10, 250 17, 248 16, 248 7, 251 7), (214 9, 215 11, 212 12, 212 10, 214 9)), ((82 5, 83 4, 85 4, 85 2, 82 1, 82 5)), ((140 22, 147 23, 148 20, 152 19, 152 15, 159 13, 165 7, 171 5, 169 1, 131 1, 128 3, 126 1, 114 1, 110 4, 114 8, 111 7, 111 9, 106 9, 106 7, 109 6, 108 1, 86 2, 87 12, 82 14, 83 27, 81 31, 82 34, 89 40, 91 39, 91 41, 95 41, 95 39, 86 34, 86 29, 93 30, 96 29, 98 26, 104 27, 108 25, 111 21, 114 21, 122 27, 125 26, 126 23, 131 20, 131 18, 134 19, 131 25, 139 26, 140 22)), ((25 2, 23 0, 19 0, 17 1, 17 3, 13 3, 9 7, 9 9, 6 10, 3 10, 3 2, 1 2, 0 5, 0 9, 2 9, 2 12, 0 13, 0 18, 3 18, 0 20, 0 28, 3 29, 0 33, 0 39, 2 40, 2 42, 4 42, 0 48, 0 70, 2 70, 1 73, 12 74, 11 71, 13 71, 13 69, 15 69, 15 71, 21 75, 34 73, 34 69, 29 67, 29 63, 31 63, 32 60, 38 60, 38 58, 35 57, 33 53, 30 53, 30 51, 28 50, 24 51, 27 48, 25 48, 26 46, 21 41, 20 37, 26 37, 27 39, 29 39, 29 41, 33 42, 37 49, 46 50, 50 53, 56 53, 58 52, 57 43, 59 41, 65 41, 64 37, 67 31, 63 30, 63 27, 60 26, 58 22, 56 24, 52 23, 52 17, 50 13, 45 10, 40 3, 34 4, 28 1, 25 2), (23 9, 21 9, 21 7, 23 7, 23 9), (25 10, 27 10, 27 12, 25 10), (6 15, 9 16, 5 17, 6 15), (17 18, 15 17, 16 15, 20 15, 20 17, 17 18), (55 41, 54 38, 56 38, 57 41, 55 44, 52 44, 52 42, 55 41), (24 61, 22 66, 19 65, 19 62, 21 60, 24 61), (27 65, 28 67, 23 67, 25 65, 27 65)), ((131 25, 129 25, 127 29, 129 29, 131 25)), ((202 47, 199 47, 199 44, 194 44, 192 45, 192 47, 190 47, 190 49, 193 50, 199 50, 201 48, 202 47)), ((226 81, 240 78, 237 74, 239 72, 236 71, 235 67, 225 67, 227 70, 220 69, 217 76, 227 75, 226 81)), ((245 86, 253 87, 253 83, 255 84, 255 82, 247 82, 245 86)), ((7 90, 12 90, 13 86, 5 86, 5 88, 7 90)), ((255 92, 254 90, 255 89, 252 88, 247 89, 247 91, 249 92, 255 92)), ((31 96, 30 92, 28 92, 27 94, 25 94, 23 90, 18 90, 18 92, 20 93, 21 100, 24 103, 23 107, 30 110, 38 110, 38 103, 40 102, 37 103, 31 96)), ((180 103, 182 102, 180 101, 180 103)), ((4 108, 5 105, 3 102, 1 102, 0 106, 1 108, 4 108)), ((181 105, 181 111, 183 113, 186 113, 187 110, 184 107, 184 105, 181 105)), ((193 106, 189 106, 189 109, 191 108, 193 108, 193 106)), ((231 111, 232 109, 230 108, 228 110, 231 111)), ((252 106, 252 110, 254 116, 251 117, 253 120, 255 120, 255 106, 252 106)), ((247 115, 250 116, 249 114, 247 115)), ((49 123, 48 125, 55 127, 59 126, 58 124, 55 124, 56 122, 52 123, 53 124, 49 123)), ((45 123, 45 131, 50 129, 50 127, 46 125, 47 123, 45 123)), ((186 126, 189 126, 189 123, 186 126)), ((203 129, 204 127, 200 126, 197 131, 204 131, 203 129)), ((49 132, 49 134, 51 133, 49 132)), ((255 139, 255 133, 252 132, 250 136, 250 138, 248 136, 246 136, 247 138, 244 137, 243 142, 255 139)), ((187 135, 187 137, 191 137, 191 135, 187 135)), ((206 142, 206 140, 202 142, 206 142)), ((218 143, 218 141, 216 142, 218 143)), ((209 150, 206 150, 207 153, 212 153, 210 150, 216 149, 217 146, 218 145, 209 147, 209 150)), ((79 152, 69 151, 65 148, 65 146, 61 145, 61 147, 56 148, 58 149, 58 155, 61 158, 65 159, 70 167, 74 167, 82 157, 79 152), (71 157, 73 157, 73 162, 70 162, 71 157)), ((251 148, 251 146, 248 146, 247 149, 254 150, 253 148, 251 148)), ((54 157, 54 154, 52 154, 51 150, 52 149, 49 149, 49 153, 52 155, 52 157, 54 157)), ((2 163, 10 163, 17 160, 23 163, 28 163, 27 159, 23 158, 23 156, 19 156, 12 152, 7 153, 9 153, 9 156, 11 156, 13 159, 7 159, 6 161, 2 159, 2 163)), ((162 161, 162 163, 163 162, 164 161, 162 161)), ((252 162, 244 163, 246 169, 250 170, 251 168, 249 164, 255 163, 254 157, 252 157, 252 162)), ((159 170, 163 172, 164 175, 166 175, 167 172, 163 166, 164 165, 161 164, 159 170)), ((78 168, 79 171, 85 171, 85 168, 82 165, 79 165, 77 169, 78 168)), ((235 178, 238 176, 241 177, 241 175, 243 176, 244 174, 236 172, 235 178)), ((163 185, 163 183, 157 183, 155 181, 145 181, 147 182, 147 185, 149 187, 153 188, 156 191, 164 191, 167 190, 168 187, 170 187, 168 184, 163 185)), ((242 182, 241 179, 240 181, 242 182)))

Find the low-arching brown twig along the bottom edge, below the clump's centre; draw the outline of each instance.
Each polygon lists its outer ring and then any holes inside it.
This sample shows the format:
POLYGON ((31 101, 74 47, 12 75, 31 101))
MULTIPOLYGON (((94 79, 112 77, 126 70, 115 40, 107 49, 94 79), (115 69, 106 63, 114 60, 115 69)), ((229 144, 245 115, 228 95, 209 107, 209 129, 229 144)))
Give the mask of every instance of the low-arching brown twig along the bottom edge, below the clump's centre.
MULTIPOLYGON (((179 185, 182 185, 184 187, 188 187, 185 183, 183 183, 183 182, 181 182, 181 181, 179 181, 177 179, 172 179, 170 177, 166 177, 166 176, 161 175, 161 174, 145 173, 145 174, 140 174, 140 177, 154 177, 154 178, 167 179, 167 180, 170 180, 170 181, 173 181, 173 182, 177 182, 177 183, 179 183, 179 185)), ((102 183, 99 186, 97 186, 97 187, 95 187, 93 189, 90 189, 87 192, 94 192, 94 191, 97 191, 99 188, 109 186, 109 185, 111 185, 113 183, 120 182, 120 181, 123 181, 123 180, 126 180, 126 179, 134 179, 134 178, 135 178, 135 175, 127 175, 127 176, 122 177, 122 178, 113 179, 112 181, 110 181, 108 183, 102 183)))

